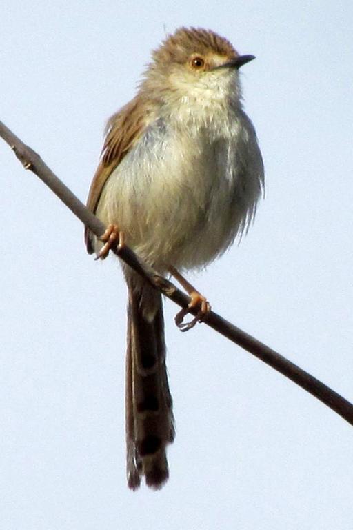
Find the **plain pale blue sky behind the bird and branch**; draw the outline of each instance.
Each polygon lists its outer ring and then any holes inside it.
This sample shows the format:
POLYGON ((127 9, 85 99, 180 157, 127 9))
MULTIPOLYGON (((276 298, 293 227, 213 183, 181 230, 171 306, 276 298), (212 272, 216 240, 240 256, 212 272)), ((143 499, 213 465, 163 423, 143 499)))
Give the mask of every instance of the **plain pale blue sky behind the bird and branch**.
MULTIPOLYGON (((242 70, 266 193, 190 279, 214 311, 353 402, 353 4, 53 0, 0 6, 0 119, 81 199, 150 50, 211 28, 242 70)), ((0 141, 1 530, 350 530, 353 428, 221 335, 174 326, 177 438, 158 492, 125 484, 126 289, 0 141)))

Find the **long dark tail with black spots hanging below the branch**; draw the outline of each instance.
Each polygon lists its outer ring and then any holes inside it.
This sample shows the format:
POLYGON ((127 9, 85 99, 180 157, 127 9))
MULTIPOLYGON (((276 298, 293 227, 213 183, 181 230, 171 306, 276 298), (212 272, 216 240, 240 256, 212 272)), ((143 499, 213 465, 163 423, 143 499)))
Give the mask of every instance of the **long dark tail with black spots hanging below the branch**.
POLYGON ((126 445, 130 489, 141 476, 160 489, 168 480, 166 446, 174 440, 172 397, 165 366, 161 295, 128 280, 126 359, 126 445))

